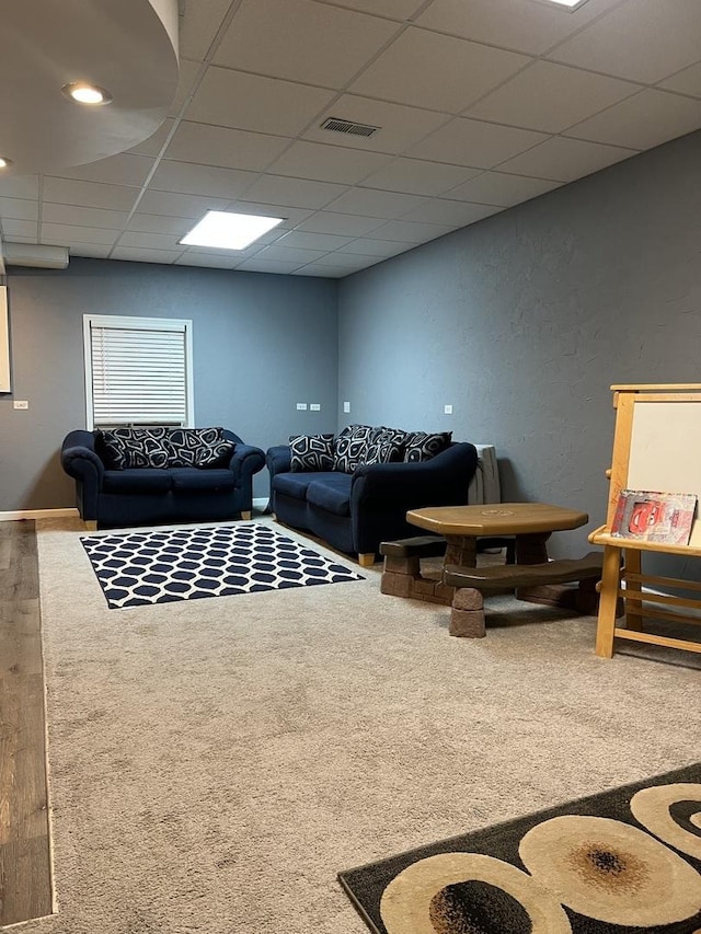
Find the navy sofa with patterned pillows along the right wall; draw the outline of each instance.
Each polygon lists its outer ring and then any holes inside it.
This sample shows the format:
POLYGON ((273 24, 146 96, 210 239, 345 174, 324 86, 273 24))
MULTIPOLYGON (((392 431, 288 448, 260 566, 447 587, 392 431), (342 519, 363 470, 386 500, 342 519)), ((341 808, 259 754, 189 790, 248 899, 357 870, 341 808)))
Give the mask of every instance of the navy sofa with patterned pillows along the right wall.
POLYGON ((409 436, 439 436, 368 426, 344 431, 337 438, 299 436, 290 439, 291 446, 268 449, 269 508, 280 522, 355 553, 360 565, 369 566, 380 542, 418 534, 406 522, 409 509, 468 503, 478 465, 474 445, 444 435, 436 453, 425 443, 410 451, 409 436), (392 434, 399 441, 391 440, 392 434), (409 459, 412 452, 414 460, 409 459))

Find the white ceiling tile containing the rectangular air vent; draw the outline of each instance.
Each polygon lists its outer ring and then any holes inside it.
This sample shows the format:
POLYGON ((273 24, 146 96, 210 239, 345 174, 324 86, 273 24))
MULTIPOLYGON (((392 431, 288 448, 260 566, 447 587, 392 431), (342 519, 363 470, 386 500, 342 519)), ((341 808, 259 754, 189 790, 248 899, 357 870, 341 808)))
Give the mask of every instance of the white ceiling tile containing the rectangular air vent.
POLYGON ((304 134, 304 139, 325 142, 330 146, 350 146, 371 152, 403 152, 423 139, 426 134, 445 124, 448 117, 420 107, 405 107, 402 104, 388 104, 344 94, 319 118, 317 126, 304 134), (380 127, 371 137, 350 136, 345 132, 332 132, 321 129, 320 125, 329 117, 350 123, 369 124, 380 127))

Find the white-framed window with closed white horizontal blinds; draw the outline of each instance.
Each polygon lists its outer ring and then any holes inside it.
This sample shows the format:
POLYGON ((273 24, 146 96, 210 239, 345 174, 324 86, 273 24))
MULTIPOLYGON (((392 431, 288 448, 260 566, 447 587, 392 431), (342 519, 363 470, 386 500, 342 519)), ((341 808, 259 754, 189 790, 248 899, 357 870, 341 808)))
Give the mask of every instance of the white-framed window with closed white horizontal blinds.
POLYGON ((192 321, 83 315, 87 425, 194 424, 192 321))

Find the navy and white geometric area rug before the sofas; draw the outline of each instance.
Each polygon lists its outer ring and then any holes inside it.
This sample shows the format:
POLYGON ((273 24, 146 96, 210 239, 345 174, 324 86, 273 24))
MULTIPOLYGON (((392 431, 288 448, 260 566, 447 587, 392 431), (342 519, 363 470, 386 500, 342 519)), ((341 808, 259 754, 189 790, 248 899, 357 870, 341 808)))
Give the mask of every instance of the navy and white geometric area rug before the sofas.
POLYGON ((364 580, 267 526, 83 535, 112 610, 364 580))

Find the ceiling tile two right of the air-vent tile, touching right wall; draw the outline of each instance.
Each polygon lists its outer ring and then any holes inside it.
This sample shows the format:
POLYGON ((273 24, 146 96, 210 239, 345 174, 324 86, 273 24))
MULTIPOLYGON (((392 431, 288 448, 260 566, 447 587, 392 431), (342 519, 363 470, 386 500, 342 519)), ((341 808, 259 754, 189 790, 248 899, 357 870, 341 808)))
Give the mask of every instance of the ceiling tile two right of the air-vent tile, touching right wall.
POLYGON ((635 153, 634 149, 553 136, 528 152, 503 162, 499 170, 556 182, 574 182, 635 153))

